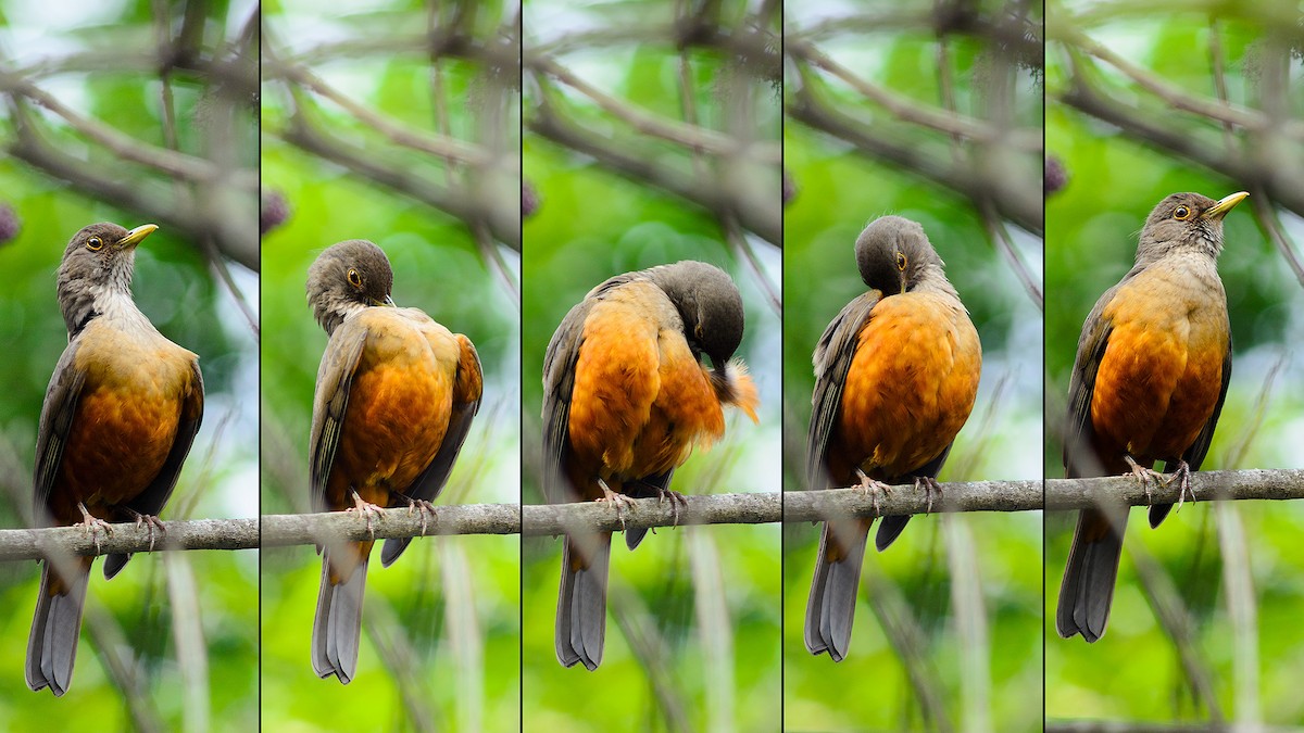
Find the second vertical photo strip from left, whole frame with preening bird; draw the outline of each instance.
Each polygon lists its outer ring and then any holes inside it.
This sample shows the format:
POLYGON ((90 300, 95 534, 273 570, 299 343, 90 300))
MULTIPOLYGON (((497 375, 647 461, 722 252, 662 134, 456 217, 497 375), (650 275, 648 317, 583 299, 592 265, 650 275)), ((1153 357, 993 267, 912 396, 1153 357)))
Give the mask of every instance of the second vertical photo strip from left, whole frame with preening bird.
POLYGON ((518 9, 280 3, 262 46, 262 725, 514 729, 519 537, 467 516, 519 524, 518 9), (327 510, 439 536, 273 535, 327 510))

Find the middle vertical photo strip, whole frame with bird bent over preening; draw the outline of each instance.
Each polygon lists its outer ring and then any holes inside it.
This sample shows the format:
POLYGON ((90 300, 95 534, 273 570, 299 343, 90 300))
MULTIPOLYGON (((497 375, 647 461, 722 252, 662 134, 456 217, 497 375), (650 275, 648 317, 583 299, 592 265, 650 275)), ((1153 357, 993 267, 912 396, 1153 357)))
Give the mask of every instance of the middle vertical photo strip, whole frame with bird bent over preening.
POLYGON ((686 524, 524 539, 527 730, 777 725, 780 20, 524 4, 527 535, 591 509, 686 524), (578 506, 599 480, 640 506, 578 506))

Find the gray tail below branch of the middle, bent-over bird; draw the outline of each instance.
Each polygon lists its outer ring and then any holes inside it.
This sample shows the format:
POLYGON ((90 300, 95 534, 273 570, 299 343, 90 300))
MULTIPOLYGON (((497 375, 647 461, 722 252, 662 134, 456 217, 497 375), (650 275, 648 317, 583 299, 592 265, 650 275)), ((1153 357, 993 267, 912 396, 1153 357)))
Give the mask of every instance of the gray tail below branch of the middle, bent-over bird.
POLYGON ((592 672, 602 664, 606 636, 606 573, 612 562, 612 535, 585 537, 585 549, 566 537, 562 586, 557 593, 557 661, 563 666, 584 663, 592 672))

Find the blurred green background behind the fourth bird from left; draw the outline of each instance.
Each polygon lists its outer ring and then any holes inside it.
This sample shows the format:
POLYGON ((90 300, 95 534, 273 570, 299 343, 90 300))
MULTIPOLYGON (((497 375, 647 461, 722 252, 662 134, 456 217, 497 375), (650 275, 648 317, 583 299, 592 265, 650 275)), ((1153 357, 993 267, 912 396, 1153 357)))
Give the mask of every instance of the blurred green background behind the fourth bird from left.
MULTIPOLYGON (((1041 4, 788 4, 784 477, 805 489, 824 327, 865 292, 861 230, 923 224, 978 329, 943 481, 1042 475, 1041 4)), ((1041 730, 1042 514, 917 516, 866 553, 848 657, 811 656, 820 527, 784 527, 790 730, 1041 730)))

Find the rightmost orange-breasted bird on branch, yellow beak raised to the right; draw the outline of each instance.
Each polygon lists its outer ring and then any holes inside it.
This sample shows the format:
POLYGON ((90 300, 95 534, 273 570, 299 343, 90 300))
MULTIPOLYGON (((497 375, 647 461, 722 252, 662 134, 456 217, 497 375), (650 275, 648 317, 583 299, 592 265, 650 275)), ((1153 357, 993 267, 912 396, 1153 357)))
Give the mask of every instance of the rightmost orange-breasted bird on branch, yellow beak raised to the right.
MULTIPOLYGON (((1069 477, 1127 473, 1149 489, 1157 460, 1181 498, 1213 440, 1231 381, 1231 321, 1218 277, 1223 217, 1249 194, 1214 201, 1174 193, 1150 211, 1136 262, 1095 301, 1069 380, 1064 468, 1069 477)), ((1149 510, 1158 527, 1172 505, 1149 510)), ((1078 513, 1060 583, 1060 636, 1104 634, 1127 515, 1078 513)))

